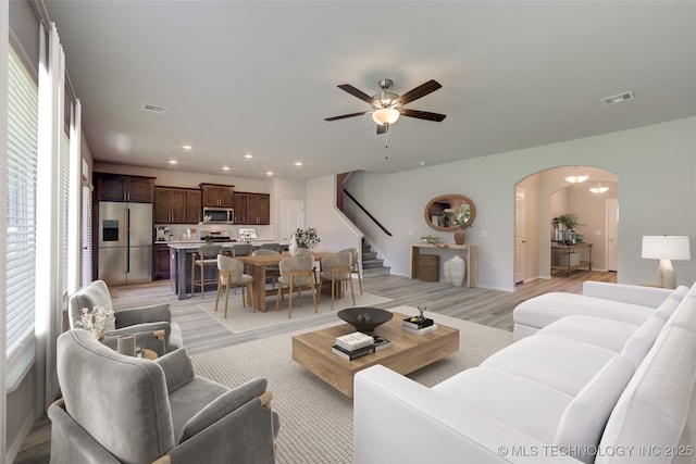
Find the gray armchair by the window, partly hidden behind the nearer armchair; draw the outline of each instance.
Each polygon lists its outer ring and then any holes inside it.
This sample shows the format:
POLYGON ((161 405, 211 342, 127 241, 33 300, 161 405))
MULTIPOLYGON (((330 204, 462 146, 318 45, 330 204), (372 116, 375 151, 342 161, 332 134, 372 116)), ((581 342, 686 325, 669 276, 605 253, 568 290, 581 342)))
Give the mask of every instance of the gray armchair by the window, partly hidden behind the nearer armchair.
MULTIPOLYGON (((95 280, 70 298, 69 319, 71 328, 79 328, 82 309, 103 306, 113 310, 109 287, 103 280, 95 280)), ((148 348, 158 355, 184 346, 182 328, 172 322, 169 303, 135 308, 115 312, 115 327, 104 336, 104 343, 113 349, 123 335, 135 335, 140 348, 148 348)))

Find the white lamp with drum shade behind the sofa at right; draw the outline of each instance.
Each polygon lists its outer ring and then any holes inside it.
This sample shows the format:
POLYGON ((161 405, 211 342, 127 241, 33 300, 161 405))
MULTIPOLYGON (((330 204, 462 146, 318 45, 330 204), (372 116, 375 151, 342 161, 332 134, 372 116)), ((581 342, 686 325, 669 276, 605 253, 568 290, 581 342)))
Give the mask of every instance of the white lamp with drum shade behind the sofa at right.
POLYGON ((642 258, 660 260, 657 268, 657 286, 676 288, 676 275, 671 260, 691 260, 688 236, 646 235, 643 236, 642 258))

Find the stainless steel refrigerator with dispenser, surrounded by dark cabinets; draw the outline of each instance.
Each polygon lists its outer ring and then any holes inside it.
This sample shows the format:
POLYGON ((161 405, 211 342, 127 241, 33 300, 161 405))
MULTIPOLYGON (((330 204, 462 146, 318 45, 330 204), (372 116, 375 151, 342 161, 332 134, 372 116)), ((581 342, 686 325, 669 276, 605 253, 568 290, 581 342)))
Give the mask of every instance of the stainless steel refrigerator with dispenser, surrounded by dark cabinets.
POLYGON ((152 281, 152 204, 99 202, 99 278, 152 281))

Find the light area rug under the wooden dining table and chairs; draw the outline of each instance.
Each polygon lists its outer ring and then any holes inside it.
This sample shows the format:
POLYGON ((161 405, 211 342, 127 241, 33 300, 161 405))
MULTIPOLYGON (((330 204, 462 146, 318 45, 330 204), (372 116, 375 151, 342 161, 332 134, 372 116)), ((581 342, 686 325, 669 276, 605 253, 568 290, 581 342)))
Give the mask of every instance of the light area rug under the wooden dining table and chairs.
MULTIPOLYGON (((376 294, 356 292, 355 306, 371 306, 381 303, 387 303, 391 301, 389 298, 377 297, 376 294)), ((229 293, 229 303, 227 308, 227 317, 223 317, 225 312, 224 296, 220 298, 217 311, 215 312, 215 293, 212 293, 210 298, 207 298, 204 303, 198 303, 198 308, 203 310, 209 316, 221 323, 227 330, 233 334, 239 334, 248 330, 256 330, 264 327, 276 326, 279 324, 287 324, 293 321, 299 321, 318 315, 324 315, 332 312, 331 310, 331 297, 325 294, 320 296, 318 312, 314 312, 314 304, 312 302, 312 296, 309 291, 302 292, 302 305, 299 305, 297 294, 293 298, 293 317, 288 318, 288 296, 286 294, 284 300, 281 301, 281 308, 275 311, 275 297, 269 297, 266 300, 265 313, 257 311, 256 313, 251 306, 241 308, 241 289, 237 289, 237 294, 229 293)), ((350 293, 340 300, 334 301, 334 311, 336 313, 339 310, 346 308, 353 308, 350 293)))

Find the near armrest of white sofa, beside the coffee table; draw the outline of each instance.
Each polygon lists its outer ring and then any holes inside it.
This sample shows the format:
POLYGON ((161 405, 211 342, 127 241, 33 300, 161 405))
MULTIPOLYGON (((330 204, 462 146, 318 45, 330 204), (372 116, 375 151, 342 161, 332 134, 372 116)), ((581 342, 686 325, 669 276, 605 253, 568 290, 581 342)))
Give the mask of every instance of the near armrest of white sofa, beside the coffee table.
POLYGON ((353 434, 356 464, 579 462, 382 365, 356 374, 353 434))

